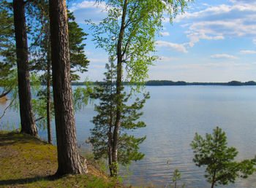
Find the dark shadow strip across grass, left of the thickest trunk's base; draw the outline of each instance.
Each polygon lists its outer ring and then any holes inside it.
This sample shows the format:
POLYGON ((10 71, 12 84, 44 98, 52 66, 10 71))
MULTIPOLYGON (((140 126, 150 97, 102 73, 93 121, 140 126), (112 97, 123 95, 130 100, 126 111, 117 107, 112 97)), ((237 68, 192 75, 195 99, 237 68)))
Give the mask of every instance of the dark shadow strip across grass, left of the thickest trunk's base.
POLYGON ((7 180, 0 180, 1 185, 14 185, 14 184, 31 184, 37 181, 54 181, 61 177, 56 176, 36 176, 34 178, 26 178, 26 179, 7 179, 7 180))

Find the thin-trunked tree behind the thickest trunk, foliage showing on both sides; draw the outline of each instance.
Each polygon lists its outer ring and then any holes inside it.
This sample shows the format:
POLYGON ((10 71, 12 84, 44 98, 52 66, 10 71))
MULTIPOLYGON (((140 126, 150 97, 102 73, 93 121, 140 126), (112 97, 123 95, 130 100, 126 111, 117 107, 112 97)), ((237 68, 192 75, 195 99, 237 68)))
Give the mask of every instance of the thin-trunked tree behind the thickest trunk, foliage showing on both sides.
MULTIPOLYGON (((53 103, 51 99, 50 86, 51 81, 51 60, 50 60, 50 24, 49 24, 49 12, 48 12, 49 1, 48 0, 37 0, 31 2, 29 9, 29 15, 31 19, 34 19, 34 25, 32 27, 32 45, 31 51, 35 57, 32 60, 31 70, 45 71, 45 74, 40 78, 43 85, 46 88, 40 88, 39 101, 34 100, 34 108, 36 114, 39 116, 39 124, 47 123, 48 128, 48 143, 52 144, 51 136, 51 120, 54 116, 53 103), (36 19, 35 19, 36 17, 36 19), (46 106, 46 111, 45 111, 46 106)), ((83 32, 82 28, 79 28, 78 24, 75 23, 75 17, 72 12, 68 12, 68 28, 69 28, 69 55, 70 65, 72 68, 72 80, 80 79, 75 74, 75 71, 83 73, 87 71, 89 60, 84 55, 83 41, 86 39, 86 33, 83 32)))

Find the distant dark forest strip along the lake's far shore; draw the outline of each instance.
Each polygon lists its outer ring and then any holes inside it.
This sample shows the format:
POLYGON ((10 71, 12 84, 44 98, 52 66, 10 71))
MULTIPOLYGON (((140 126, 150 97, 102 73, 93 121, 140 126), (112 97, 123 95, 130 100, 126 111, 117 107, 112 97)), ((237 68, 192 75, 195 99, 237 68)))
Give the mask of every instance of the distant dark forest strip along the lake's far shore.
MULTIPOLYGON (((91 82, 93 85, 97 85, 102 82, 91 82)), ((72 85, 85 85, 86 82, 72 82, 72 85)), ((124 85, 129 85, 129 82, 124 82, 124 85)), ((231 82, 184 82, 178 81, 173 82, 170 80, 149 80, 145 83, 145 85, 230 85, 230 86, 243 86, 243 85, 256 85, 256 82, 239 82, 239 81, 231 81, 231 82)))

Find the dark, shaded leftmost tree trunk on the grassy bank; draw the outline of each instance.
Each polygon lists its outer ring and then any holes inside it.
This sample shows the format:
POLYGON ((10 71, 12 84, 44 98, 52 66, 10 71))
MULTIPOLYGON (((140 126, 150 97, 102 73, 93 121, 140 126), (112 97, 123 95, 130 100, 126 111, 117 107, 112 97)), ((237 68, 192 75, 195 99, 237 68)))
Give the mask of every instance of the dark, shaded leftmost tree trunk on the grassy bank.
POLYGON ((29 80, 29 57, 26 36, 25 3, 23 0, 13 1, 15 24, 15 40, 18 69, 18 94, 20 102, 20 133, 28 133, 38 137, 37 127, 31 103, 31 90, 29 80))

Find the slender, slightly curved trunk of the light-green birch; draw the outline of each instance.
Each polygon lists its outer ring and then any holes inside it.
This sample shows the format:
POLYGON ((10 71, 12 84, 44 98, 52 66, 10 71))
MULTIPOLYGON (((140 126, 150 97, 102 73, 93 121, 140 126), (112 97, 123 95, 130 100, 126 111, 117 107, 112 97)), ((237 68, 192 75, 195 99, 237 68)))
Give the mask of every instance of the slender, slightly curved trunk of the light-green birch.
POLYGON ((113 132, 113 151, 112 151, 112 160, 114 163, 113 169, 113 176, 117 175, 117 144, 118 144, 118 130, 121 126, 121 109, 122 109, 122 101, 121 101, 121 83, 122 83, 122 62, 123 62, 123 55, 122 55, 122 42, 124 39, 124 29, 125 29, 125 19, 127 14, 127 3, 128 0, 124 1, 123 7, 123 14, 121 17, 121 28, 118 36, 118 44, 117 44, 117 73, 116 73, 116 123, 113 132))

